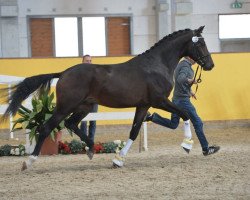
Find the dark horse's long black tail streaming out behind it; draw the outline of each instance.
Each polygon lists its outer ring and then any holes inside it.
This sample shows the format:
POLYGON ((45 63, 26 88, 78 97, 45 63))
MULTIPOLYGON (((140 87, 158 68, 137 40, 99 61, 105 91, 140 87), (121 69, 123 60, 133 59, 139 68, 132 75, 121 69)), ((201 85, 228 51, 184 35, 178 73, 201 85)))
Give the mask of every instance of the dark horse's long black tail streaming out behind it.
POLYGON ((1 120, 7 119, 10 115, 14 116, 21 106, 21 103, 36 90, 39 89, 39 91, 42 91, 44 89, 50 89, 51 80, 53 78, 59 78, 60 75, 61 73, 53 73, 31 76, 11 88, 1 89, 1 93, 4 91, 2 97, 4 96, 6 103, 9 103, 1 120), (11 95, 8 97, 9 90, 11 95))

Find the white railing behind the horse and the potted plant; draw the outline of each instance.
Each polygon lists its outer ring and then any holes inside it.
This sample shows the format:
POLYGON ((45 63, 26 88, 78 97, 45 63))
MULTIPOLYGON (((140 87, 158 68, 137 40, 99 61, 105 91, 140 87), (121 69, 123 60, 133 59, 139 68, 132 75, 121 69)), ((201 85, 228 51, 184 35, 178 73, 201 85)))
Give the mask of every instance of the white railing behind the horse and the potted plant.
MULTIPOLYGON (((15 76, 5 76, 0 75, 0 84, 7 84, 10 88, 11 85, 16 84, 24 79, 24 77, 15 77, 15 76)), ((52 86, 56 85, 58 79, 53 80, 52 86)), ((10 92, 9 92, 10 94, 10 92)), ((26 100, 26 106, 30 107, 30 99, 26 100)), ((8 105, 0 105, 0 115, 2 115, 7 109, 8 105)), ((98 121, 98 120, 133 120, 135 116, 134 112, 97 112, 97 113, 89 113, 82 121, 98 121)), ((13 118, 10 116, 10 130, 13 126, 13 118)), ((147 122, 143 122, 143 148, 145 151, 148 150, 147 143, 147 122)), ((14 138, 13 132, 10 133, 10 138, 14 138)), ((26 148, 29 148, 29 139, 26 138, 26 148)))

